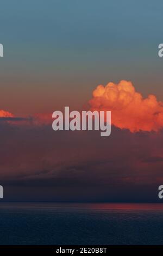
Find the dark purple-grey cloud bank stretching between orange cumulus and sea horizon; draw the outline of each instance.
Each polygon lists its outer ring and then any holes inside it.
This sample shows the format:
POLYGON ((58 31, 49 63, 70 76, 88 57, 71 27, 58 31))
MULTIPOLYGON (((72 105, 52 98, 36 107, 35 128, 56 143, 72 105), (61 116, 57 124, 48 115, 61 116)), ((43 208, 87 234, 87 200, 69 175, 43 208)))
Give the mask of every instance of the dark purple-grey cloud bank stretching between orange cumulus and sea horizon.
POLYGON ((4 200, 158 202, 162 139, 162 131, 112 127, 110 137, 101 137, 1 122, 4 200))

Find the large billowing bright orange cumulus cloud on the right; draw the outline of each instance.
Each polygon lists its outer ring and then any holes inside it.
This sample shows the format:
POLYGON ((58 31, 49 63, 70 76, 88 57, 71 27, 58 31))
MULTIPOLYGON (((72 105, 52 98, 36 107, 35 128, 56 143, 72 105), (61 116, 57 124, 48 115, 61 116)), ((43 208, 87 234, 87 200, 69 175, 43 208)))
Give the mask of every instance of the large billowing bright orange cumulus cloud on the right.
POLYGON ((143 99, 130 81, 97 86, 89 104, 91 111, 111 111, 111 124, 120 129, 158 131, 163 127, 163 102, 152 94, 143 99))

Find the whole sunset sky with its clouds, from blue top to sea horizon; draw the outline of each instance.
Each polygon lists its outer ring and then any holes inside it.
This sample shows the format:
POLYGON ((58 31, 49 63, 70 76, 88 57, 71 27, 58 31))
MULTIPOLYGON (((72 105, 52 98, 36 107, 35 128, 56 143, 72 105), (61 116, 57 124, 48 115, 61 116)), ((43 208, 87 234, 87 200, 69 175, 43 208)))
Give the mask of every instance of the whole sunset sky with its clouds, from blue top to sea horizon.
POLYGON ((2 0, 0 5, 0 109, 15 118, 0 120, 6 200, 158 200, 162 1, 2 0), (131 103, 124 112, 122 102, 101 100, 114 114, 109 138, 98 132, 55 133, 46 123, 46 115, 64 106, 97 108, 92 95, 97 86, 113 82, 117 88, 120 81, 131 81, 141 107, 131 103), (125 121, 117 122, 115 106, 125 121), (128 123, 131 109, 134 126, 128 123), (38 114, 43 124, 31 125, 38 114))

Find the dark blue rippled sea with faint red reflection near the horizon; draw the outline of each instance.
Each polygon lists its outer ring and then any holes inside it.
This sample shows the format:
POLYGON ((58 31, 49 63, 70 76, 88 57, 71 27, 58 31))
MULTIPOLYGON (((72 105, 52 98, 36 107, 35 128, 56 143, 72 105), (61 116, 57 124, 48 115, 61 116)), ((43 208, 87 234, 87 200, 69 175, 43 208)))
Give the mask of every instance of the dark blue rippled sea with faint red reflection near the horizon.
POLYGON ((0 203, 0 244, 163 245, 163 205, 0 203))

